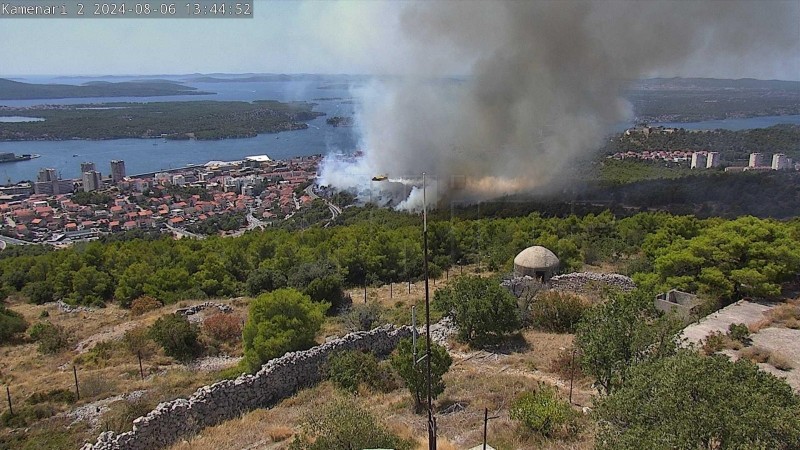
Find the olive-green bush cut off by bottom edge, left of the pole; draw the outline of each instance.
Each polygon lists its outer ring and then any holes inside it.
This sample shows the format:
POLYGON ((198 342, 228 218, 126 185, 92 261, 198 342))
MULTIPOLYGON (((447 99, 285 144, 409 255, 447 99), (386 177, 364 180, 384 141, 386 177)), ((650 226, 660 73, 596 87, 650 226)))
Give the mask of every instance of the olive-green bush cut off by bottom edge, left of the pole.
POLYGON ((361 448, 410 450, 412 447, 352 399, 336 399, 312 411, 289 446, 291 450, 361 448))

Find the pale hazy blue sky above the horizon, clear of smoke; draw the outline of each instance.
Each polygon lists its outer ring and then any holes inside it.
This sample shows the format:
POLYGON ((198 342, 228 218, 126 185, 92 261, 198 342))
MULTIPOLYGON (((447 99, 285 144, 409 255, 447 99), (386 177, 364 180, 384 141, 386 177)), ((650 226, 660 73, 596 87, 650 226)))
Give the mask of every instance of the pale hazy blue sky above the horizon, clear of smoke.
MULTIPOLYGON (((654 1, 662 0, 648 3, 654 1)), ((492 8, 488 0, 484 3, 492 8)), ((680 2, 673 5, 682 7, 680 2)), ((436 52, 426 60, 418 42, 409 43, 413 37, 403 21, 409 20, 407 11, 413 7, 380 0, 255 0, 253 19, 0 19, 0 76, 468 74, 473 63, 469 57, 436 52), (408 64, 409 58, 416 59, 414 64, 408 64)), ((447 7, 456 11, 459 4, 447 7)), ((796 33, 791 30, 794 35, 788 38, 800 41, 800 17, 796 23, 796 33)), ((476 30, 477 35, 482 32, 491 30, 476 30)), ((712 58, 711 64, 709 58, 700 53, 645 75, 800 80, 797 52, 765 49, 757 62, 712 58)))

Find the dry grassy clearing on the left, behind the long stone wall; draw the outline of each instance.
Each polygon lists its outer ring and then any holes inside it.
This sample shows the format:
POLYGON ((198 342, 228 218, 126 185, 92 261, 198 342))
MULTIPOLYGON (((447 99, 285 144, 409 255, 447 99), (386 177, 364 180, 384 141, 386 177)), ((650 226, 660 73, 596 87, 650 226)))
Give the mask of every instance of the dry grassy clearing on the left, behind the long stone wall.
MULTIPOLYGON (((34 343, 0 347, 0 380, 9 385, 14 404, 21 405, 34 393, 53 389, 74 391, 73 366, 77 368, 81 398, 75 405, 55 405, 58 412, 135 390, 147 390, 156 402, 164 401, 187 396, 213 381, 211 374, 189 372, 160 351, 143 353, 146 378, 141 380, 138 360, 126 348, 123 336, 131 329, 152 324, 159 316, 174 311, 177 305, 136 317, 117 305, 71 314, 61 312, 55 305, 15 302, 11 308, 31 324, 37 323, 46 311, 46 319, 64 327, 75 344, 53 355, 40 354, 34 343)), ((72 427, 71 432, 85 433, 84 438, 94 439, 97 432, 85 428, 72 427)))

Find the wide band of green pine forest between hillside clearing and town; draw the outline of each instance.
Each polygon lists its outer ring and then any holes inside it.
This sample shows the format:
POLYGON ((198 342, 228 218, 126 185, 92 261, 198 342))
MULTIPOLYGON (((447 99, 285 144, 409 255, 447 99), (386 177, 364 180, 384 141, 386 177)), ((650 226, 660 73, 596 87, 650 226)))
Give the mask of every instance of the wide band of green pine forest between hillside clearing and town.
MULTIPOLYGON (((459 264, 508 273, 530 245, 550 248, 561 271, 609 262, 650 290, 707 294, 723 303, 773 296, 800 270, 800 221, 745 216, 699 219, 667 213, 617 218, 610 212, 546 217, 434 219, 430 273, 459 264)), ((403 282, 422 276, 420 218, 377 208, 349 208, 339 225, 302 231, 248 232, 205 240, 116 240, 53 251, 13 247, 0 254, 7 294, 31 302, 123 306, 147 295, 182 299, 257 295, 312 280, 342 286, 403 282)))

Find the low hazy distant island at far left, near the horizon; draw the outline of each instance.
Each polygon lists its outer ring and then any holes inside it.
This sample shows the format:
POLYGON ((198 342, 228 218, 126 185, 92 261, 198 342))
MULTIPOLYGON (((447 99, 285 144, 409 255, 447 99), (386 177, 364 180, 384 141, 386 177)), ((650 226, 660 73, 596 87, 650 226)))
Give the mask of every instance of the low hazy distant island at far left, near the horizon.
POLYGON ((170 95, 209 95, 169 80, 90 81, 73 84, 35 84, 0 78, 0 100, 38 100, 90 97, 161 97, 170 95))

